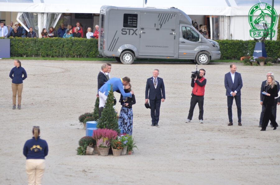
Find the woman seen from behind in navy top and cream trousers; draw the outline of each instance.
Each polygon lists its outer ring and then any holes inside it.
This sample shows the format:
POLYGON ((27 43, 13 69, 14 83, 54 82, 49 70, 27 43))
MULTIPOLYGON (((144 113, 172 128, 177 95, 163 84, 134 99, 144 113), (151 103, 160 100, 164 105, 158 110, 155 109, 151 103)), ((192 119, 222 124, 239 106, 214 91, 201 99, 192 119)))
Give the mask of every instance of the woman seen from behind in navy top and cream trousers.
POLYGON ((42 184, 42 177, 45 171, 45 156, 48 155, 49 148, 45 140, 40 139, 40 128, 34 126, 33 138, 25 142, 23 155, 26 156, 26 174, 28 185, 42 184))

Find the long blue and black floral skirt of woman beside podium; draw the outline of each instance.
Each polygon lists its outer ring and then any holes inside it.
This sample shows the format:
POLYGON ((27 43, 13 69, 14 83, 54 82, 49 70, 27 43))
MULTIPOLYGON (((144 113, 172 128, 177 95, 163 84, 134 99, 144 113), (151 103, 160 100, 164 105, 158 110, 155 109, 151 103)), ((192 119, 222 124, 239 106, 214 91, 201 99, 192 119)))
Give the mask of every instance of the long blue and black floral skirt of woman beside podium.
POLYGON ((124 134, 132 135, 132 108, 122 107, 119 112, 119 129, 122 129, 124 134))

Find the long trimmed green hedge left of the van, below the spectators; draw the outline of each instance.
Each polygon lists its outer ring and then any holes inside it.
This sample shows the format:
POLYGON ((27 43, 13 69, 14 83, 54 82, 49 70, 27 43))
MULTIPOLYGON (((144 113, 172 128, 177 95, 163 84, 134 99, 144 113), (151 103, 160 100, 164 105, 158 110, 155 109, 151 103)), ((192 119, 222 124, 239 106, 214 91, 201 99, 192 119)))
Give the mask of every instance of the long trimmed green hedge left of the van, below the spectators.
POLYGON ((10 45, 11 57, 94 58, 99 54, 97 39, 15 37, 10 45))

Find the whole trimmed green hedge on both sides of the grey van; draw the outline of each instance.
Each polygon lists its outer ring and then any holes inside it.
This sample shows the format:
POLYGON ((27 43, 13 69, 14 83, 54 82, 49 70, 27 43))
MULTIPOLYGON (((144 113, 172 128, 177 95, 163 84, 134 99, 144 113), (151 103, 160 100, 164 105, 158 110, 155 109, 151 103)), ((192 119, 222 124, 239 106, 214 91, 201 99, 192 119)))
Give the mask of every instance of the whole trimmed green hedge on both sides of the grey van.
MULTIPOLYGON (((252 56, 255 41, 217 40, 221 59, 240 59, 252 56)), ((11 38, 11 57, 63 57, 95 58, 98 40, 85 38, 11 38)), ((280 41, 265 40, 267 56, 280 57, 280 41)))

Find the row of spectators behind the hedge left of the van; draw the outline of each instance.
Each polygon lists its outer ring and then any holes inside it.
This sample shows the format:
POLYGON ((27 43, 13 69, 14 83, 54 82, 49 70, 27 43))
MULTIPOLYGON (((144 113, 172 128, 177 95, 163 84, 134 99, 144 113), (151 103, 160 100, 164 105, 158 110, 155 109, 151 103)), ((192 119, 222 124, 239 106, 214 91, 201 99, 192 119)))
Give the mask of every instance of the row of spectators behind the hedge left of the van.
POLYGON ((5 26, 3 22, 0 22, 0 37, 29 37, 29 38, 49 38, 49 37, 61 37, 61 38, 73 38, 73 37, 80 37, 84 38, 84 35, 87 39, 96 38, 98 39, 99 34, 99 26, 95 26, 95 32, 91 32, 91 28, 87 28, 85 32, 83 32, 82 25, 80 22, 76 23, 75 27, 68 24, 65 28, 64 24, 61 24, 57 30, 54 27, 50 26, 49 29, 43 28, 42 32, 37 35, 33 31, 32 27, 28 27, 26 22, 24 22, 25 27, 29 29, 27 31, 21 24, 18 22, 14 23, 10 22, 10 25, 5 26))

